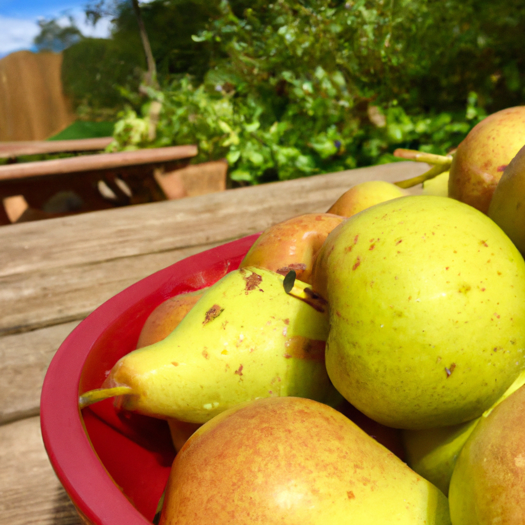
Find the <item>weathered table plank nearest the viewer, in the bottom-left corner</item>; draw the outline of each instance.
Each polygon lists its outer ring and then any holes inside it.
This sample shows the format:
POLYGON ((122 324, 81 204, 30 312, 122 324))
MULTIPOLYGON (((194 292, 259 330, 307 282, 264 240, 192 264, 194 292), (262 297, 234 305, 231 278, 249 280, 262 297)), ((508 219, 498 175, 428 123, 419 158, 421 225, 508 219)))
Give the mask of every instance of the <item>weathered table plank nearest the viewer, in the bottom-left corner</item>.
POLYGON ((39 417, 0 426, 0 517, 5 525, 81 525, 47 458, 39 417))

